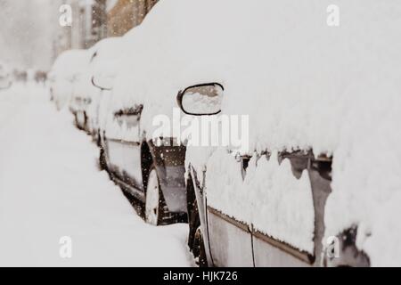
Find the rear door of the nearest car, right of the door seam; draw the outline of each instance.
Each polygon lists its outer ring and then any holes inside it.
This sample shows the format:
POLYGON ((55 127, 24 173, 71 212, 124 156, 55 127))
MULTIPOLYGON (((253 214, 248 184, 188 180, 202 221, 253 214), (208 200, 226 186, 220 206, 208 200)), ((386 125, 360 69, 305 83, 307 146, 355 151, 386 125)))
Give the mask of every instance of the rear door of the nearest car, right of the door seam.
POLYGON ((267 154, 247 185, 252 191, 255 266, 309 266, 315 261, 315 209, 309 155, 267 154))

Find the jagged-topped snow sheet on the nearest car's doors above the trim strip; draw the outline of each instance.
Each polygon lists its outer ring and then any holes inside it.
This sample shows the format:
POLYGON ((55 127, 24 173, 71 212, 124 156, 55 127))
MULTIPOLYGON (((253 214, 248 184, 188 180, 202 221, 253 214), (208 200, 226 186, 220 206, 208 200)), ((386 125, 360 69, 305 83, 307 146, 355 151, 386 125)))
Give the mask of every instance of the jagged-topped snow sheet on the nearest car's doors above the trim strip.
POLYGON ((207 165, 208 204, 255 230, 314 253, 315 212, 309 177, 298 180, 289 159, 250 159, 245 180, 241 165, 226 151, 213 152, 207 165), (222 163, 222 161, 225 161, 222 163))

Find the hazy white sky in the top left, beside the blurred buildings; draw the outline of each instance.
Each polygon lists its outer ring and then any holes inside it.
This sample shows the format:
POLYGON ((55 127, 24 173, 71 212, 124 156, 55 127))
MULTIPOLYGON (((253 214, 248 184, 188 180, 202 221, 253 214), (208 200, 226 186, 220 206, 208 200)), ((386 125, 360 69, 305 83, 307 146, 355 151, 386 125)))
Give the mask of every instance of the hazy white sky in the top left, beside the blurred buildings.
POLYGON ((58 0, 0 0, 0 61, 17 68, 48 69, 58 0))

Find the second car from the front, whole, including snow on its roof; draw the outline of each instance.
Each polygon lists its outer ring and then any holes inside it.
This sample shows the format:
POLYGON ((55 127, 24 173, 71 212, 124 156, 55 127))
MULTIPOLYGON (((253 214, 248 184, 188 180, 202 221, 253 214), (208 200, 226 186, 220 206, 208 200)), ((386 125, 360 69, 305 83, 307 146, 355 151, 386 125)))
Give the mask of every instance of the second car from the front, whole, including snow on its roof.
MULTIPOLYGON (((187 208, 185 148, 155 144, 148 127, 150 114, 158 113, 162 103, 160 94, 152 96, 146 87, 161 82, 158 70, 150 69, 157 61, 152 45, 160 39, 160 12, 164 10, 158 5, 141 26, 124 37, 126 47, 117 76, 110 78, 105 72, 103 80, 94 77, 94 85, 107 93, 102 96, 99 116, 102 167, 123 190, 144 203, 145 220, 154 225, 185 220, 187 208), (112 88, 109 83, 102 85, 110 81, 112 88)), ((174 95, 168 102, 172 106, 174 95)))

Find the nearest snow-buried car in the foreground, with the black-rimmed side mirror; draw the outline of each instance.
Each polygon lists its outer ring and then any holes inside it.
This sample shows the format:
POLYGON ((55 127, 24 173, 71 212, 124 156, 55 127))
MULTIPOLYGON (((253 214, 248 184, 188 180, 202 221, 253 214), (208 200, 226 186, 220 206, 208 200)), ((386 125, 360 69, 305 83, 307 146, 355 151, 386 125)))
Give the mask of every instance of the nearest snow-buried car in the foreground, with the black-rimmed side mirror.
POLYGON ((201 265, 400 265, 401 4, 340 1, 331 27, 288 2, 175 7, 178 104, 223 138, 186 149, 189 246, 201 265))

